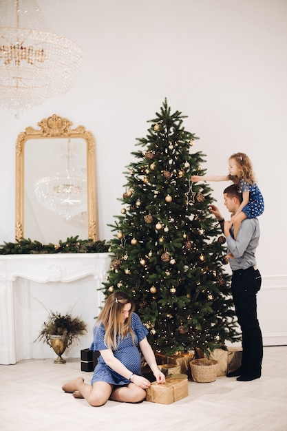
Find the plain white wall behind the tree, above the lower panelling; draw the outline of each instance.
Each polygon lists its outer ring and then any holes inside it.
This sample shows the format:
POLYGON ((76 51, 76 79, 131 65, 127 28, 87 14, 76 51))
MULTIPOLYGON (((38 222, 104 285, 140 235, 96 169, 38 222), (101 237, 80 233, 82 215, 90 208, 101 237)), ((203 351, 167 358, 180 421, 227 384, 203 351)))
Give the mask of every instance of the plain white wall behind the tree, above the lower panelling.
MULTIPOLYGON (((54 31, 79 43, 85 58, 69 93, 18 120, 0 108, 0 242, 14 240, 19 132, 54 113, 92 131, 99 235, 109 240, 107 224, 120 213, 117 199, 136 138, 146 135, 147 120, 167 97, 173 110, 189 116, 184 126, 200 137, 194 150, 206 154, 210 174, 225 174, 235 151, 253 160, 266 201, 259 269, 271 280, 280 276, 286 288, 286 0, 38 3, 54 31)), ((219 204, 223 187, 213 184, 219 204)))

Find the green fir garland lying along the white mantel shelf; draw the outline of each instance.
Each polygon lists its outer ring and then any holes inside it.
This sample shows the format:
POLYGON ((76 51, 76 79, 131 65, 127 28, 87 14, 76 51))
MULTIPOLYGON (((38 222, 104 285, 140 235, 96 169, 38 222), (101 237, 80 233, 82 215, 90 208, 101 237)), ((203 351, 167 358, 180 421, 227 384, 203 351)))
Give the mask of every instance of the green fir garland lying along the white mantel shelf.
POLYGON ((30 238, 0 245, 0 255, 55 254, 55 253, 107 253, 109 244, 104 241, 79 240, 78 235, 59 241, 59 244, 42 244, 30 238))

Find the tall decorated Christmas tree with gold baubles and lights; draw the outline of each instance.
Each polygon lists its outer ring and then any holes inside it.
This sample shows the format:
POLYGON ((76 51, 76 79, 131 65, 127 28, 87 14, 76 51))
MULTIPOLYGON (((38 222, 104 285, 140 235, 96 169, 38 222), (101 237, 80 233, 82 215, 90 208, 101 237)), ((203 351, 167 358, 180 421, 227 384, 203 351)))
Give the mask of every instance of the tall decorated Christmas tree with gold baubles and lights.
POLYGON ((204 174, 204 154, 192 152, 195 134, 181 112, 164 101, 138 138, 121 214, 111 225, 111 269, 103 291, 126 291, 149 329, 149 342, 167 355, 209 353, 235 341, 233 302, 224 271, 225 238, 211 215, 211 188, 193 183, 204 174))

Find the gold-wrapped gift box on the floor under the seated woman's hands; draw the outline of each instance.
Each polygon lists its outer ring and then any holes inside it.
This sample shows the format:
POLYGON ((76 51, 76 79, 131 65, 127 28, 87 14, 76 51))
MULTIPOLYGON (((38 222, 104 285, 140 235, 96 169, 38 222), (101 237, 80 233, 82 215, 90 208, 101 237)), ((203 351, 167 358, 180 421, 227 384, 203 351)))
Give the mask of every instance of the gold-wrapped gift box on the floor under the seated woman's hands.
POLYGON ((154 381, 147 388, 147 401, 151 403, 171 404, 189 395, 187 379, 168 377, 165 383, 154 381))

